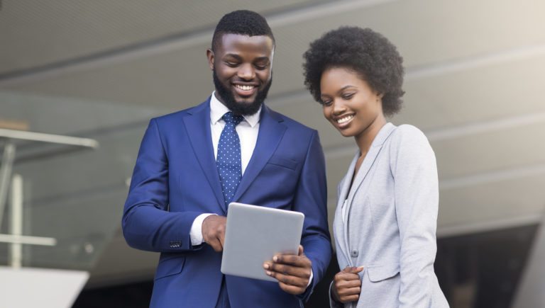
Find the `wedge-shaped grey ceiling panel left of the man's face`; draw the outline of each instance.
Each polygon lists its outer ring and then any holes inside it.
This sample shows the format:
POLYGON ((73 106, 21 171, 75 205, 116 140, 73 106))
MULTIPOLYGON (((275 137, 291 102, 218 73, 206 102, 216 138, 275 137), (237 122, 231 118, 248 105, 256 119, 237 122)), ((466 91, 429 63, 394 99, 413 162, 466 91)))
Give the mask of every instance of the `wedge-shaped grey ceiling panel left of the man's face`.
POLYGON ((214 90, 206 49, 199 45, 9 89, 180 110, 204 101, 214 90))

